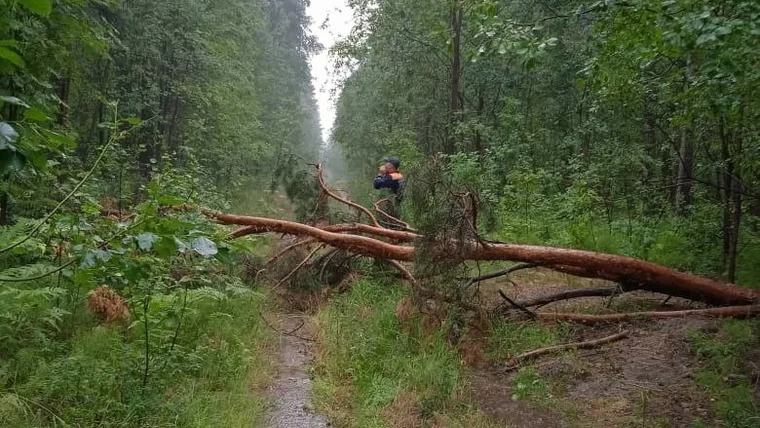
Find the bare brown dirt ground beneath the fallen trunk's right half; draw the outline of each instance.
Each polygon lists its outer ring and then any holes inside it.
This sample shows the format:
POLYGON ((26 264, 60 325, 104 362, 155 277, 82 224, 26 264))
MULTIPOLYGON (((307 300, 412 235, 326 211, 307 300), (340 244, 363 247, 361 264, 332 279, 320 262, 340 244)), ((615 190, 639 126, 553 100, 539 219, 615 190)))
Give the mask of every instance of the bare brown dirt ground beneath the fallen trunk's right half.
MULTIPOLYGON (((544 270, 526 271, 507 281, 481 288, 483 300, 501 303, 496 290, 514 300, 573 288, 609 285, 544 270)), ((548 305, 541 311, 599 312, 662 308, 663 298, 651 293, 629 293, 608 298, 584 298, 548 305), (610 308, 606 308, 611 303, 610 308)), ((671 299, 669 308, 689 307, 671 299)), ((492 306, 492 307, 493 307, 492 306)), ((629 337, 602 348, 542 357, 535 362, 550 385, 548 397, 512 398, 515 372, 503 365, 477 364, 471 369, 472 400, 492 419, 509 427, 690 427, 694 420, 717 423, 711 403, 693 378, 701 368, 690 352, 690 331, 715 328, 709 319, 642 321, 611 326, 574 326, 569 342, 608 336, 623 328, 629 337)))

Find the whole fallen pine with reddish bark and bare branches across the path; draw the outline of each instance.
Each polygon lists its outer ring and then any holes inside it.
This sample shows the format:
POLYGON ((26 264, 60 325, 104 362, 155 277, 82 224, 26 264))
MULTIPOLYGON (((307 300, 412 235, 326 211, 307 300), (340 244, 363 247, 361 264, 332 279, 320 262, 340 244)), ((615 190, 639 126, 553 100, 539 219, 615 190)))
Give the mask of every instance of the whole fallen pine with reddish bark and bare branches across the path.
MULTIPOLYGON (((315 250, 313 249, 309 256, 306 257, 306 259, 304 259, 298 266, 296 266, 294 271, 288 274, 287 278, 293 277, 295 271, 307 264, 309 259, 316 255, 319 249, 324 247, 331 247, 332 250, 343 250, 351 254, 386 261, 398 269, 401 272, 402 277, 412 284, 415 284, 418 289, 421 290, 424 288, 425 293, 423 294, 427 294, 428 296, 435 296, 436 298, 442 298, 442 300, 448 301, 450 303, 458 302, 458 304, 468 310, 476 308, 475 305, 472 305, 469 302, 464 302, 461 295, 456 296, 456 298, 443 298, 442 293, 434 290, 436 287, 422 287, 414 279, 411 272, 401 264, 401 262, 417 261, 417 259, 420 257, 419 245, 425 244, 426 242, 429 244, 429 241, 431 241, 430 236, 409 228, 408 225, 404 224, 401 221, 397 221, 396 223, 403 225, 404 230, 393 230, 381 227, 371 211, 331 191, 325 184, 325 181, 322 177, 321 167, 319 165, 316 165, 316 167, 317 181, 322 188, 323 196, 330 197, 340 203, 345 204, 349 207, 349 209, 357 211, 360 213, 360 215, 367 217, 371 224, 356 222, 348 224, 323 224, 320 226, 312 226, 282 219, 221 213, 209 209, 202 209, 201 211, 218 223, 230 226, 239 226, 237 230, 229 235, 229 239, 237 239, 247 235, 263 233, 279 233, 283 235, 293 235, 298 237, 298 241, 295 244, 290 245, 284 250, 278 252, 278 254, 276 254, 273 259, 270 260, 270 262, 282 257, 283 254, 295 248, 310 247, 312 244, 317 245, 318 248, 315 250)), ((457 194, 454 195, 454 197, 461 199, 462 195, 457 194)), ((473 198, 465 199, 469 200, 473 198)), ((475 202, 473 201, 469 205, 462 205, 470 206, 470 208, 472 208, 473 213, 471 218, 467 218, 466 210, 456 213, 458 216, 457 219, 459 219, 460 222, 464 224, 464 226, 469 227, 469 229, 474 229, 474 225, 476 223, 476 214, 474 213, 476 211, 476 207, 474 204, 475 202)), ((173 209, 190 210, 195 208, 190 206, 182 206, 173 207, 173 209)), ((381 215, 389 220, 397 220, 385 212, 381 213, 381 215)), ((685 312, 686 314, 708 316, 715 316, 715 314, 718 314, 717 316, 723 316, 723 314, 729 314, 729 316, 744 316, 744 313, 746 311, 741 312, 737 309, 737 307, 746 309, 748 306, 751 306, 752 309, 750 309, 748 313, 751 315, 756 315, 757 311, 754 309, 754 305, 760 304, 760 290, 742 288, 735 284, 701 277, 687 272, 681 272, 644 260, 627 256, 597 253, 584 250, 495 243, 481 239, 477 235, 477 231, 472 230, 472 232, 474 233, 460 234, 458 237, 454 238, 452 238, 451 235, 446 235, 443 233, 443 238, 436 237, 435 239, 432 239, 434 245, 444 249, 445 253, 443 257, 438 260, 434 260, 433 263, 442 263, 441 266, 443 266, 444 264, 448 265, 451 263, 459 263, 465 260, 473 260, 510 261, 518 264, 502 271, 471 278, 465 282, 465 286, 463 287, 464 289, 467 289, 470 285, 477 284, 482 281, 509 275, 517 270, 545 268, 578 277, 611 281, 617 284, 617 287, 615 288, 619 291, 644 290, 665 294, 668 296, 682 297, 712 306, 733 307, 727 312, 687 311, 685 312), (448 249, 454 249, 455 251, 446 252, 448 249), (450 257, 450 255, 453 253, 455 253, 455 259, 446 258, 447 256, 450 257)), ((429 261, 430 260, 428 260, 428 262, 429 261)), ((285 279, 281 280, 279 283, 282 283, 284 281, 285 279)), ((512 302, 511 306, 513 308, 515 306, 520 308, 527 308, 530 306, 541 306, 552 301, 568 298, 583 296, 609 296, 614 295, 615 293, 616 292, 613 291, 613 289, 595 289, 590 291, 571 290, 552 296, 546 296, 545 298, 539 298, 538 300, 534 301, 527 301, 522 303, 512 302)), ((654 318, 677 316, 670 313, 663 314, 667 315, 652 313, 648 316, 654 318)), ((548 317, 553 319, 560 319, 562 316, 564 316, 563 314, 539 315, 541 318, 548 317)), ((627 314, 619 315, 620 319, 630 318, 630 316, 627 314)), ((566 319, 575 320, 574 315, 567 316, 566 319)), ((599 320, 602 319, 604 318, 599 318, 599 320)), ((577 320, 582 321, 581 318, 577 318, 577 320)), ((592 320, 592 318, 588 318, 588 320, 592 320)), ((610 320, 612 320, 612 318, 610 318, 610 320)), ((597 321, 597 319, 593 319, 591 322, 595 321, 597 321)))

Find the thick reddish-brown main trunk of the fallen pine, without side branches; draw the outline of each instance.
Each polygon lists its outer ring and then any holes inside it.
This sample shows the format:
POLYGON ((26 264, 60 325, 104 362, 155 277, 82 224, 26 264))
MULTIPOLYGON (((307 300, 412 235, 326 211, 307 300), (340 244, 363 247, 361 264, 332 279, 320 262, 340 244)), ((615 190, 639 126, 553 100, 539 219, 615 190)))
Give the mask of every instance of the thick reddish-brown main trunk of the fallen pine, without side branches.
MULTIPOLYGON (((381 238, 409 243, 420 237, 413 232, 388 230, 366 224, 318 228, 265 217, 222 214, 210 210, 204 212, 219 223, 246 227, 236 232, 235 236, 267 232, 308 236, 335 248, 382 260, 413 262, 416 250, 413 246, 389 243, 381 238), (363 235, 350 234, 351 232, 363 235)), ((683 297, 710 305, 738 306, 760 303, 758 290, 680 272, 632 257, 533 245, 482 242, 451 242, 447 245, 456 246, 462 252, 462 257, 468 260, 530 263, 575 276, 614 281, 634 288, 683 297)))

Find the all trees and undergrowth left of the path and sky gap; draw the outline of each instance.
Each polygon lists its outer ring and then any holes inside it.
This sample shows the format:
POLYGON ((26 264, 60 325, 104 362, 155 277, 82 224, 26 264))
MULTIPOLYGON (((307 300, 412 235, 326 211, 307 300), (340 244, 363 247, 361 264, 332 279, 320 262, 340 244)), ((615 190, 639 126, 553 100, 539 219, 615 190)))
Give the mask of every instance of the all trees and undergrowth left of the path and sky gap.
POLYGON ((263 212, 270 190, 302 192, 322 145, 305 8, 0 2, 0 425, 262 412, 247 385, 266 299, 223 231, 158 207, 263 212))

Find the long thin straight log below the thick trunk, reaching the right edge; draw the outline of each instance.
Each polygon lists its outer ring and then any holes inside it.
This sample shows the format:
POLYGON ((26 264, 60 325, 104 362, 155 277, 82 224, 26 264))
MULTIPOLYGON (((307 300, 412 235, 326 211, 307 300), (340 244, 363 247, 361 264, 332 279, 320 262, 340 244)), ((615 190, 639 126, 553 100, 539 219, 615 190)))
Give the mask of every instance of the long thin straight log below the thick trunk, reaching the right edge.
POLYGON ((686 311, 629 312, 622 314, 587 315, 541 313, 538 319, 546 321, 572 321, 581 324, 606 324, 637 319, 685 318, 690 316, 711 318, 751 318, 760 315, 760 305, 727 306, 722 308, 690 309, 686 311))

